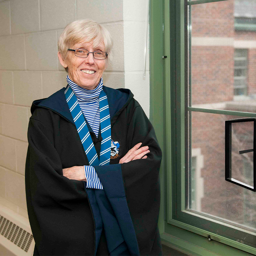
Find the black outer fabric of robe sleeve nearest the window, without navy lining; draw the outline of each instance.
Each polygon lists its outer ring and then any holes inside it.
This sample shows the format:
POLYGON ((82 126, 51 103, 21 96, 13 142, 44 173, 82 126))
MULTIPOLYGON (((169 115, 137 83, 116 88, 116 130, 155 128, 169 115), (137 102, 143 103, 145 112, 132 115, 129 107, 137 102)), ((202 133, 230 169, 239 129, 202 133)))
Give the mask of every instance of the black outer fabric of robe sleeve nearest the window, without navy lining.
MULTIPOLYGON (((121 165, 127 204, 137 235, 140 254, 150 255, 152 244, 158 232, 159 169, 162 151, 156 139, 154 128, 140 106, 136 107, 132 113, 126 143, 130 149, 139 142, 142 142, 141 146, 149 147, 148 157, 121 165)), ((161 244, 159 248, 161 254, 161 244)))

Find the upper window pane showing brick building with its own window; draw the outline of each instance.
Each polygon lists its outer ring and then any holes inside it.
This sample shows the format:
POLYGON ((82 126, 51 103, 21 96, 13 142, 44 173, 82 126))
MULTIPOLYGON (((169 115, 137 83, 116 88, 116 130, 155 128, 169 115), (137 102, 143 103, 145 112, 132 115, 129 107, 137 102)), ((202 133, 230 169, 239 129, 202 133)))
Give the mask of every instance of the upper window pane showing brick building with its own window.
POLYGON ((255 3, 228 0, 189 7, 191 107, 256 113, 255 3), (235 19, 244 17, 250 31, 236 29, 235 19))

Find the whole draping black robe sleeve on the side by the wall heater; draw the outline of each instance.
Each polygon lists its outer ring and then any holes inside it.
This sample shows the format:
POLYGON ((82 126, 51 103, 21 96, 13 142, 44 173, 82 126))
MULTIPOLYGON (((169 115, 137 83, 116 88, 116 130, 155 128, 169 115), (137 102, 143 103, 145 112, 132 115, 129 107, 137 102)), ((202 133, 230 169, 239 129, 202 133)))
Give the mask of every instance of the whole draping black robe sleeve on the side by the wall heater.
POLYGON ((94 224, 84 183, 63 176, 51 124, 33 118, 28 125, 25 183, 39 254, 92 255, 94 224))

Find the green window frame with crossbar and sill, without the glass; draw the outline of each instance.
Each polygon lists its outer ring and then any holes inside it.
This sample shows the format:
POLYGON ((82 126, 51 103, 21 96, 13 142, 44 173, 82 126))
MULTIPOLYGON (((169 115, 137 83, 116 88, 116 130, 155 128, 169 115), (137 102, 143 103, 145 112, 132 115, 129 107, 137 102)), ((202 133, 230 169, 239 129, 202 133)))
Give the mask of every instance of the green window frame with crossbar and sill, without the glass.
MULTIPOLYGON (((193 3, 217 1, 220 0, 194 0, 193 3)), ((186 200, 182 167, 185 166, 182 146, 185 138, 175 132, 185 134, 185 4, 184 0, 150 0, 150 120, 163 150, 158 223, 161 238, 164 244, 193 255, 256 255, 252 246, 215 234, 205 227, 196 227, 189 220, 185 221, 186 217, 176 218, 177 209, 179 215, 183 214, 186 200), (164 55, 167 58, 162 58, 164 55)), ((223 114, 223 110, 188 109, 223 114)), ((225 114, 252 116, 252 113, 241 115, 235 111, 225 111, 225 114)))

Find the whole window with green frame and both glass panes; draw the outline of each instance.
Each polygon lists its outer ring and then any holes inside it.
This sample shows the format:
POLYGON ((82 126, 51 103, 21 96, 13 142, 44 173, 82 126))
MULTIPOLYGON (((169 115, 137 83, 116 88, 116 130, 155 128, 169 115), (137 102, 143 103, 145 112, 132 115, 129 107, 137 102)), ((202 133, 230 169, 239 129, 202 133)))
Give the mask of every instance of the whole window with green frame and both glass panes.
MULTIPOLYGON (((235 0, 164 0, 164 9, 155 2, 150 10, 150 115, 164 149, 161 236, 185 247, 179 241, 186 238, 179 234, 189 230, 191 254, 198 253, 191 244, 200 241, 195 246, 201 250, 208 236, 215 242, 204 252, 217 250, 218 244, 217 254, 224 255, 223 248, 230 254, 232 247, 255 254, 256 198, 225 181, 225 121, 256 116, 256 34, 235 29, 235 0), (163 22, 154 20, 156 12, 164 13, 162 41, 163 22), (238 88, 235 80, 241 77, 238 88)), ((248 159, 241 159, 248 167, 242 170, 249 169, 248 159)))

